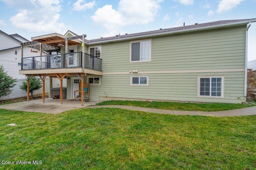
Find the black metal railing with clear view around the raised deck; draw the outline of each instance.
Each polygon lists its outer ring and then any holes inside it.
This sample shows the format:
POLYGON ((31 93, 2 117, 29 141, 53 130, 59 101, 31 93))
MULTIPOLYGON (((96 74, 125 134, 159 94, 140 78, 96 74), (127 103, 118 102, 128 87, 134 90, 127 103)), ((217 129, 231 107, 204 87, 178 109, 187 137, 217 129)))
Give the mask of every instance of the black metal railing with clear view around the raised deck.
MULTIPOLYGON (((102 71, 101 64, 102 59, 85 53, 84 68, 102 71)), ((82 52, 25 57, 21 59, 21 70, 81 67, 82 52)))

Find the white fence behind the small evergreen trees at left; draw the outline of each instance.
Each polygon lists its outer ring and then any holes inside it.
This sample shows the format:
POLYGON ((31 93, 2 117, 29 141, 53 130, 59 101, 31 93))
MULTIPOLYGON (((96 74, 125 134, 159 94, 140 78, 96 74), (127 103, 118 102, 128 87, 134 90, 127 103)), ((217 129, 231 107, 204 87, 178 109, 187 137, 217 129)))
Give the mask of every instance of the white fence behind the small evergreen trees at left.
MULTIPOLYGON (((22 84, 22 81, 24 79, 18 79, 16 82, 16 85, 12 88, 12 93, 7 96, 2 96, 0 100, 8 100, 8 99, 14 99, 19 97, 27 96, 27 92, 20 89, 20 85, 22 84)), ((49 78, 47 77, 45 80, 45 92, 49 92, 49 78)), ((42 94, 43 90, 40 88, 39 90, 35 90, 33 94, 42 94)))

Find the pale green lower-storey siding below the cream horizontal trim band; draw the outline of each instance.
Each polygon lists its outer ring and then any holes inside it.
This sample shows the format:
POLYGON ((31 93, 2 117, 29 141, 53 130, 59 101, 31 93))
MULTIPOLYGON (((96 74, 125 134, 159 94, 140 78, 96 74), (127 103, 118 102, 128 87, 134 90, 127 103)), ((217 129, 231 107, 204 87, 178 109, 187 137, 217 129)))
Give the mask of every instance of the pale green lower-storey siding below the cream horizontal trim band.
POLYGON ((191 102, 244 102, 244 72, 219 72, 224 76, 224 98, 198 98, 198 76, 216 76, 216 73, 172 73, 172 74, 136 74, 148 76, 149 86, 130 86, 130 74, 104 75, 100 86, 90 86, 90 97, 98 101, 99 97, 134 98, 148 100, 172 100, 191 102), (237 97, 240 99, 237 99, 237 97))

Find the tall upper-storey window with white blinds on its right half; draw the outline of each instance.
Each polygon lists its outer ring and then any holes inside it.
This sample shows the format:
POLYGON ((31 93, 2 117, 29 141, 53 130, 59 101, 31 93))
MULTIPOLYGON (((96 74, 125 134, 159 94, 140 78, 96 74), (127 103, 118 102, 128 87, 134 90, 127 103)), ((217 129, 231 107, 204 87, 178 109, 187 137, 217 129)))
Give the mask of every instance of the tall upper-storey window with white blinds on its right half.
POLYGON ((131 42, 131 62, 151 61, 151 40, 131 42))

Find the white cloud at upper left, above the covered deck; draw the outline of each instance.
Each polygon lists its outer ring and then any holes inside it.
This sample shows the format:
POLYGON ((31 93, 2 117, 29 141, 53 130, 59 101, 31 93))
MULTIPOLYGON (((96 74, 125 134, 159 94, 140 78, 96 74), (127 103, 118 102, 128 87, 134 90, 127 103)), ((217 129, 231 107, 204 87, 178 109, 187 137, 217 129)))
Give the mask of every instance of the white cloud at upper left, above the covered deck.
MULTIPOLYGON (((12 0, 11 0, 12 1, 12 0)), ((58 32, 63 33, 67 28, 58 22, 62 10, 59 0, 31 0, 32 8, 23 8, 12 16, 12 25, 28 32, 58 32)))

